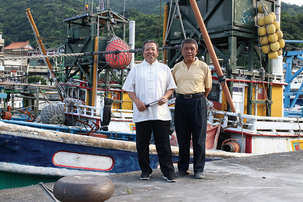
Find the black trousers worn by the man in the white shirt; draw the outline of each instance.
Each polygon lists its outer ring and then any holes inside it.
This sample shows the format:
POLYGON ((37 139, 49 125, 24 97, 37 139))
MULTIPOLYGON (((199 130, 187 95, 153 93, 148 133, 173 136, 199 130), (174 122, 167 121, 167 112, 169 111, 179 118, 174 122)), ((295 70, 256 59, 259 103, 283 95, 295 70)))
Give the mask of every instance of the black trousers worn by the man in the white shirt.
POLYGON ((149 166, 149 140, 153 130, 161 172, 173 175, 175 168, 172 162, 172 150, 169 141, 170 121, 150 120, 136 123, 136 147, 141 171, 151 173, 149 166))

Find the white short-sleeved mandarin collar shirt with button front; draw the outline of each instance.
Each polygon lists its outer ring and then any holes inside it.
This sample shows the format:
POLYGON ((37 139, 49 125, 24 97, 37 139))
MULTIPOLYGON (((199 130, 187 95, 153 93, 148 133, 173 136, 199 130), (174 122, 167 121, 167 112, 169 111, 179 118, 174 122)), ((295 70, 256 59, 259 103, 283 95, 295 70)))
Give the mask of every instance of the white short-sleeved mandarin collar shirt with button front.
MULTIPOLYGON (((170 68, 156 60, 153 64, 145 60, 134 66, 122 87, 123 90, 135 92, 145 105, 159 100, 167 90, 176 89, 170 68)), ((154 105, 139 112, 133 103, 133 122, 148 120, 171 120, 168 102, 165 105, 154 105)))

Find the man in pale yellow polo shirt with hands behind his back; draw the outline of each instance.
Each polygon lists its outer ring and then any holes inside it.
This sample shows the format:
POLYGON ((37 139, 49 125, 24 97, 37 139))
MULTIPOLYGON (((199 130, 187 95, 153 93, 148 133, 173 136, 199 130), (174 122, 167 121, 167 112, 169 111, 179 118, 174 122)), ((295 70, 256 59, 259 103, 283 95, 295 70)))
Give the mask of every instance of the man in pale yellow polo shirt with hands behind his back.
POLYGON ((173 69, 177 85, 174 122, 179 144, 176 177, 188 175, 190 139, 193 145, 193 171, 196 179, 205 178, 205 141, 207 131, 206 97, 212 88, 212 75, 208 65, 195 58, 198 44, 194 39, 182 41, 182 62, 173 69))

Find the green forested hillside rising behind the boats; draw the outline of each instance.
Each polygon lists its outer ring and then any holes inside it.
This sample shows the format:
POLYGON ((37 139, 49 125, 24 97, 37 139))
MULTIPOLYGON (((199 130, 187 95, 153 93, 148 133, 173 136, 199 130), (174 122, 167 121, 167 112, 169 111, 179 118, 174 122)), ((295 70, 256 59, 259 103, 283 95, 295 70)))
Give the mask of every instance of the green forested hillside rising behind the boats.
MULTIPOLYGON (((163 13, 164 5, 168 1, 116 0, 110 1, 110 8, 136 21, 136 47, 140 47, 146 39, 154 39, 160 41, 161 44, 163 15, 160 20, 160 8, 163 13)), ((3 32, 6 46, 12 41, 27 40, 35 46, 33 31, 25 14, 28 8, 40 35, 44 39, 57 39, 44 41, 47 47, 52 48, 63 43, 63 38, 66 37, 67 25, 63 20, 81 14, 83 11, 83 0, 0 0, 0 2, 2 3, 0 32, 3 32)), ((104 1, 105 4, 106 2, 104 1)), ((93 7, 89 5, 90 9, 97 7, 98 3, 99 1, 94 1, 93 7)), ((281 30, 284 33, 284 39, 303 40, 303 6, 298 7, 282 2, 281 30)), ((302 44, 292 44, 292 46, 303 47, 302 44)))

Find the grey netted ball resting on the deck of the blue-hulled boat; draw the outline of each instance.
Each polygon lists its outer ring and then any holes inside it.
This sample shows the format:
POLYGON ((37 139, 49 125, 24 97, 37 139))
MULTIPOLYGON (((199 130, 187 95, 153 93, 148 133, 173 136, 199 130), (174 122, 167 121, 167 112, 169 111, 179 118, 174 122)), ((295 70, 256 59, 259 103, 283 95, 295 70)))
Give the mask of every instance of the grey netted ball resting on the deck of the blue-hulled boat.
POLYGON ((65 122, 64 111, 58 106, 48 105, 40 112, 43 124, 63 124, 65 122))

